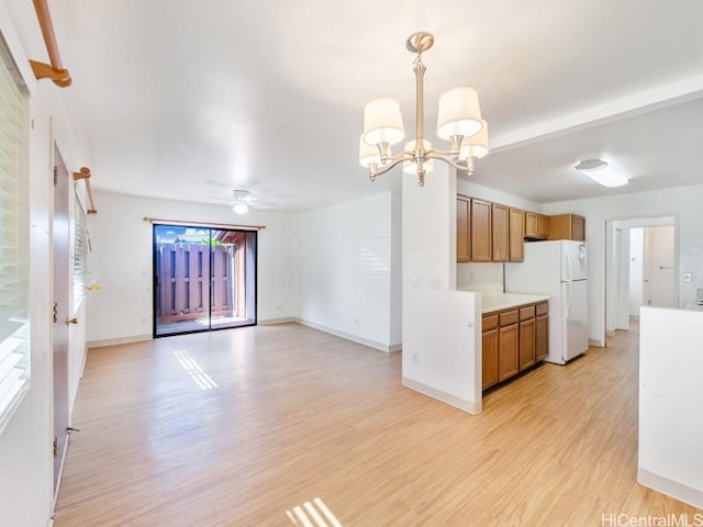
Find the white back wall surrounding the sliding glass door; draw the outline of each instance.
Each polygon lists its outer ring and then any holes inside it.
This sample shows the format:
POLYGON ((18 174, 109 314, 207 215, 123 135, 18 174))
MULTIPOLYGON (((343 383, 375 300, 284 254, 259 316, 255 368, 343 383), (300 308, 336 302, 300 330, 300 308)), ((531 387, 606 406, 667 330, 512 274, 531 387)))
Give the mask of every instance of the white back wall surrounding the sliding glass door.
POLYGON ((88 269, 100 289, 88 291, 89 345, 150 338, 153 231, 145 216, 186 222, 265 225, 258 234, 258 319, 292 316, 292 259, 288 214, 94 192, 98 214, 88 217, 92 251, 88 269))

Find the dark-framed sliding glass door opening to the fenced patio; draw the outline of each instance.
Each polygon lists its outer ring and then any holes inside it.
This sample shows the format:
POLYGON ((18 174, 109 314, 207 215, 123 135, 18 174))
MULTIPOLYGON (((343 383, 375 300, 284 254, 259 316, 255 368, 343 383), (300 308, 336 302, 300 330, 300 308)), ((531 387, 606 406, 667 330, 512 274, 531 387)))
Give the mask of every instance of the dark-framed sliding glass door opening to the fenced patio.
POLYGON ((256 324, 255 231, 154 225, 154 336, 256 324))

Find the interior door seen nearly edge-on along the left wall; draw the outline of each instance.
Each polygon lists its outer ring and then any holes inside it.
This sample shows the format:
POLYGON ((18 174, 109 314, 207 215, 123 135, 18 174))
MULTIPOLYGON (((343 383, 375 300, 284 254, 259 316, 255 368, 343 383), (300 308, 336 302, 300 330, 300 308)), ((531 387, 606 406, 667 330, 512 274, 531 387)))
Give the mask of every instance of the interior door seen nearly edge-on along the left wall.
POLYGON ((68 446, 68 170, 54 146, 54 491, 68 446))

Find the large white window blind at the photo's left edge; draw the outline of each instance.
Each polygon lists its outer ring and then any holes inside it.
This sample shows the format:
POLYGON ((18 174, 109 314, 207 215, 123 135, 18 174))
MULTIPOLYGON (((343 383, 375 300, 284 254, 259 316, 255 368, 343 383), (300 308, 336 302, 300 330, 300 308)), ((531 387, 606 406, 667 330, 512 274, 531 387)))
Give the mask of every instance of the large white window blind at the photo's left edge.
POLYGON ((8 56, 0 53, 0 431, 30 385, 29 110, 8 56))

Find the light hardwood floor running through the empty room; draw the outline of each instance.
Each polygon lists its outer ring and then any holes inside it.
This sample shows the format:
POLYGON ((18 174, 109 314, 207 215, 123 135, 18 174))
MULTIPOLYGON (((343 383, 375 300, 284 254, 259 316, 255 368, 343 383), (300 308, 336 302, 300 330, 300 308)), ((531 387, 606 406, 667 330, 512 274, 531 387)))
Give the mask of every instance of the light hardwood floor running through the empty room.
POLYGON ((611 515, 702 513, 635 480, 636 330, 490 392, 478 416, 400 379, 400 354, 295 324, 92 349, 54 527, 614 526, 611 515))

